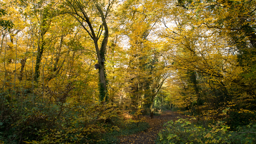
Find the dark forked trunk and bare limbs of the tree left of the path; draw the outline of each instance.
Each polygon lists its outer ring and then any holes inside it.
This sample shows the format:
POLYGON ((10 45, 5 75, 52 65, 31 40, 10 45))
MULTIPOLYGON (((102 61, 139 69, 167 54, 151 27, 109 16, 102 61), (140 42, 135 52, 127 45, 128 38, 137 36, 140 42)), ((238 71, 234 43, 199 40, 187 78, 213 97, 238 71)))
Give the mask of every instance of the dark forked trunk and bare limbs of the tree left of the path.
MULTIPOLYGON (((104 66, 105 54, 106 54, 105 52, 106 52, 108 36, 109 36, 106 18, 108 16, 108 12, 110 11, 112 5, 114 4, 114 1, 112 2, 108 1, 109 4, 107 6, 106 13, 103 13, 102 9, 105 9, 105 8, 100 7, 100 5, 98 4, 98 1, 95 1, 95 0, 91 1, 92 4, 98 10, 97 13, 99 14, 102 21, 102 24, 97 30, 98 33, 95 33, 93 29, 94 23, 92 23, 93 20, 88 16, 90 14, 87 14, 87 9, 84 8, 84 5, 80 1, 65 0, 64 2, 71 9, 71 12, 67 12, 67 13, 69 13, 72 17, 74 17, 81 24, 81 26, 84 28, 87 34, 89 34, 89 36, 93 39, 95 52, 97 53, 98 64, 99 64, 99 92, 100 92, 99 99, 101 102, 104 100, 108 102, 107 80, 106 80, 106 71, 104 66), (99 49, 98 42, 99 42, 99 39, 101 39, 100 37, 101 37, 102 31, 104 31, 104 37, 102 39, 100 49, 99 49)), ((88 5, 89 2, 85 5, 88 5)))

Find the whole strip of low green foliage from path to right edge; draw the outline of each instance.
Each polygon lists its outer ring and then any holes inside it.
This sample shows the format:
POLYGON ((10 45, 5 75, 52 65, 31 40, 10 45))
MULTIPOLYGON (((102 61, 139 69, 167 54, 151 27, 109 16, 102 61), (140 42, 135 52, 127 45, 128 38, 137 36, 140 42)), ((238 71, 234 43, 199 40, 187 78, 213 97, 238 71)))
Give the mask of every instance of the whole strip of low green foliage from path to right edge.
POLYGON ((181 118, 165 123, 156 143, 255 143, 255 124, 239 127, 233 132, 220 121, 202 126, 191 120, 181 118))

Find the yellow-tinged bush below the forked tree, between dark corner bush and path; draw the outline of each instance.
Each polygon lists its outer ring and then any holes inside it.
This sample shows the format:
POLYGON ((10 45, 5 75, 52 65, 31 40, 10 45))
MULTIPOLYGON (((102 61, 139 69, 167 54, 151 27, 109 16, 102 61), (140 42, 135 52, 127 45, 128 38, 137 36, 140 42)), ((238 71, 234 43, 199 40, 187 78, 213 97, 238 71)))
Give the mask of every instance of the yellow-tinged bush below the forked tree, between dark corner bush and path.
POLYGON ((39 131, 43 135, 42 139, 27 143, 99 142, 103 133, 117 128, 107 122, 107 119, 117 117, 117 113, 118 110, 110 105, 66 105, 53 129, 39 131))

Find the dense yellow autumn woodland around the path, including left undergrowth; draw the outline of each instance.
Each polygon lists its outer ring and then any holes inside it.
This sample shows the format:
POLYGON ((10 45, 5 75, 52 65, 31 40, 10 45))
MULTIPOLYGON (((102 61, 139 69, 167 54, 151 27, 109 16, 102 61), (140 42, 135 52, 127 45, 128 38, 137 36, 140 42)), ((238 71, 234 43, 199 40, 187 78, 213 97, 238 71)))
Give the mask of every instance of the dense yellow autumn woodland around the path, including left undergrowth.
POLYGON ((99 142, 134 109, 255 120, 255 0, 0 5, 0 142, 99 142))

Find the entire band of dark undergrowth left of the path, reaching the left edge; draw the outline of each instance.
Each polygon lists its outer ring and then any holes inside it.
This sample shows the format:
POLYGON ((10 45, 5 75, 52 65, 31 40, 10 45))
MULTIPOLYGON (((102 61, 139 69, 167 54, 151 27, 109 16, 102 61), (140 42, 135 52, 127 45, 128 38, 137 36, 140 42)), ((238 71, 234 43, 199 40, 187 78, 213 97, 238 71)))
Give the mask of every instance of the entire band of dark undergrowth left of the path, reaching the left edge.
POLYGON ((23 100, 11 103, 1 95, 0 142, 118 143, 118 136, 146 131, 148 123, 126 121, 122 109, 102 103, 51 104, 23 100))

